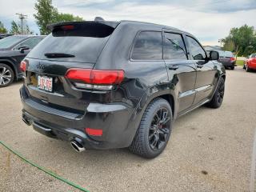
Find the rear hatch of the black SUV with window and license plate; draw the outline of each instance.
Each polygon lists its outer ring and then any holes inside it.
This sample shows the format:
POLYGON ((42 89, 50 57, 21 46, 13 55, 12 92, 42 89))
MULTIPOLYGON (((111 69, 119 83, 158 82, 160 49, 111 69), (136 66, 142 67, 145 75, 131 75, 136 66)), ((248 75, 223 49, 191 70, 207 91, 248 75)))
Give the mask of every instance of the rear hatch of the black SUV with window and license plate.
MULTIPOLYGON (((93 69, 117 25, 117 22, 68 22, 50 26, 52 33, 23 61, 30 99, 78 113, 84 113, 90 101, 100 102, 97 91, 80 89, 66 74, 71 68, 87 72, 93 69)), ((75 83, 79 82, 82 81, 75 83)))

